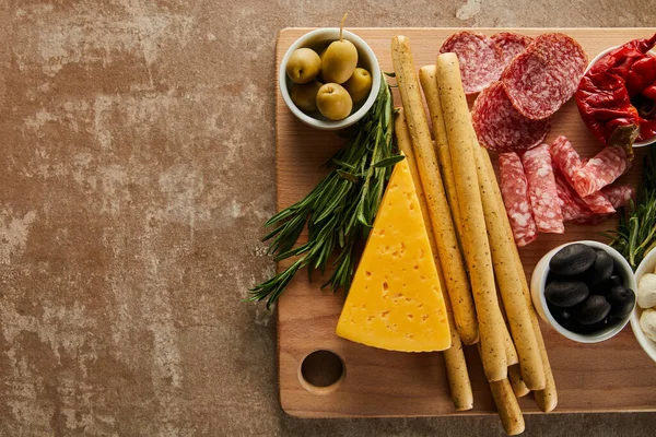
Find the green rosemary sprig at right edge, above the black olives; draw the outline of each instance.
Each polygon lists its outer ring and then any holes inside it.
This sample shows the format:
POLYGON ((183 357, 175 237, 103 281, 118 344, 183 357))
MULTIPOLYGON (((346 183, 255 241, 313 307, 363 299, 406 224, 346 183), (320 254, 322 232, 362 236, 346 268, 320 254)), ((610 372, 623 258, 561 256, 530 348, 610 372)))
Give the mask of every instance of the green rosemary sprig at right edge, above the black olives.
POLYGON ((630 201, 617 231, 605 236, 612 238, 610 246, 617 249, 633 270, 656 247, 656 153, 649 146, 643 162, 643 186, 636 202, 630 201))

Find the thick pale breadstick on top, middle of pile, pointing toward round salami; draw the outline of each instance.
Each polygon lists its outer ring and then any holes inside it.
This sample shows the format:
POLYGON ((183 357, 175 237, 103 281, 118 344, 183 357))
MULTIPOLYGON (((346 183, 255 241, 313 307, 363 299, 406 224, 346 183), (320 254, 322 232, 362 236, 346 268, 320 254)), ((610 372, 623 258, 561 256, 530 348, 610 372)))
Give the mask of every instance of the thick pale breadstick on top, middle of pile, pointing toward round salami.
POLYGON ((437 85, 462 222, 462 250, 469 267, 479 320, 481 359, 488 380, 499 381, 507 376, 503 318, 496 298, 492 257, 478 185, 470 134, 471 119, 455 54, 437 57, 437 85))

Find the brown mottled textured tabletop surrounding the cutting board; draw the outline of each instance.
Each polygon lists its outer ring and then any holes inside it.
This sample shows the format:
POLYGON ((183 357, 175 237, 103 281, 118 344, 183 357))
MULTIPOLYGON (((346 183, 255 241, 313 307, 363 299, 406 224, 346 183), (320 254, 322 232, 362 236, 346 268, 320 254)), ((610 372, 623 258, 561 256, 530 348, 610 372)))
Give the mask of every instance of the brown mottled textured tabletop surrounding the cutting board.
MULTIPOLYGON (((499 435, 278 403, 274 42, 286 26, 646 26, 651 0, 0 0, 0 436, 499 435), (572 3, 572 4, 571 4, 572 3)), ((611 359, 612 357, 609 357, 611 359)), ((656 371, 656 368, 655 368, 656 371)), ((647 435, 654 414, 527 417, 647 435)))

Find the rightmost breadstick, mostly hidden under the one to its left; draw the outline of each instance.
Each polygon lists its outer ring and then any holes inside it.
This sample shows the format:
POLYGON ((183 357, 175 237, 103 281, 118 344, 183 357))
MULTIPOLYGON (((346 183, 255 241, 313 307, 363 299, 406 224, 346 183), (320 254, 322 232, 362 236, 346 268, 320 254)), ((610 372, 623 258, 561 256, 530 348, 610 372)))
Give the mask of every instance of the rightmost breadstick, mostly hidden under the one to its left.
MULTIPOLYGON (((481 149, 481 154, 483 156, 483 164, 485 165, 485 168, 488 169, 488 174, 493 175, 494 168, 492 167, 492 161, 490 161, 490 155, 488 154, 488 151, 484 149, 481 149)), ((496 180, 496 179, 494 179, 494 180, 496 180)), ((492 189, 494 192, 494 197, 496 198, 496 204, 500 208, 504 208, 503 206, 503 204, 504 204, 503 198, 501 197, 501 190, 499 189, 499 185, 492 184, 492 189)), ((500 211, 503 211, 503 210, 500 210, 500 211)), ((504 217, 502 220, 502 224, 505 228, 505 233, 508 236, 508 238, 513 238, 513 231, 511 229, 511 223, 507 220, 507 215, 502 214, 502 216, 504 217)), ((512 250, 512 253, 513 253, 512 262, 513 262, 514 269, 516 269, 517 271, 524 271, 524 267, 522 264, 522 259, 519 258, 519 252, 517 251, 517 247, 514 247, 514 249, 512 250)), ((549 413, 550 411, 553 411, 555 409, 555 405, 558 404, 558 392, 555 390, 555 380, 553 379, 553 373, 551 370, 551 365, 549 364, 549 356, 547 354, 547 347, 544 346, 544 340, 542 339, 542 332, 540 331, 540 322, 538 320, 538 315, 536 314, 536 310, 532 307, 532 303, 530 300, 530 293, 529 293, 526 275, 522 274, 519 276, 520 276, 520 281, 522 281, 522 290, 524 292, 524 298, 529 308, 531 326, 532 326, 535 334, 536 334, 536 340, 538 342, 538 349, 540 350, 540 357, 542 359, 542 368, 544 370, 544 389, 537 390, 534 393, 535 393, 535 398, 536 398, 538 408, 541 411, 543 411, 544 413, 549 413)))

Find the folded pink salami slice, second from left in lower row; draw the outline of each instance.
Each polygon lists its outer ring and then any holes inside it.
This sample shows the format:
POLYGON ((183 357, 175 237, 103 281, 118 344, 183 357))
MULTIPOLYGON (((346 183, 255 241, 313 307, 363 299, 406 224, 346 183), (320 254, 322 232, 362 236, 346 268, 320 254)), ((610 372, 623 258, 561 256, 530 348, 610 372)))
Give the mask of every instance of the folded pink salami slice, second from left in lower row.
POLYGON ((528 180, 528 198, 538 231, 551 234, 564 233, 563 213, 559 203, 549 144, 541 144, 526 151, 522 164, 528 180))

